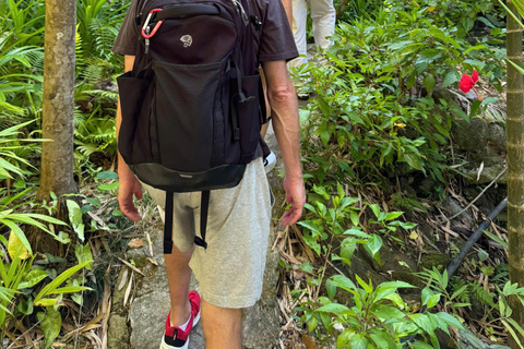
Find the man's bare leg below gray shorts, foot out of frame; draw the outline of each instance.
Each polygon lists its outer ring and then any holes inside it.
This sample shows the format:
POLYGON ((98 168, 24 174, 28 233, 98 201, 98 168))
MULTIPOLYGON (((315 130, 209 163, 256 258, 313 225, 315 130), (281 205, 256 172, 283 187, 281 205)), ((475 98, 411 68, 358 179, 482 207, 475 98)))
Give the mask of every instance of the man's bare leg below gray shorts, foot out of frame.
POLYGON ((205 349, 242 349, 242 310, 215 306, 202 300, 205 349))

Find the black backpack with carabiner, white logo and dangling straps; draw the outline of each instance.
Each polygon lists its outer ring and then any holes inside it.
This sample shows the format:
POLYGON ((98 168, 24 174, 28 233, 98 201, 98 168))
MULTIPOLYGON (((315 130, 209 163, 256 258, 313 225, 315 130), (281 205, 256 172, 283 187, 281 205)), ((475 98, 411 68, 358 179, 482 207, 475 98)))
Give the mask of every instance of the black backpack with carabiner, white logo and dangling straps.
MULTIPOLYGON (((175 192, 236 186, 265 120, 249 0, 150 0, 138 5, 134 67, 117 79, 118 149, 143 182, 166 191, 164 253, 172 250, 175 192)), ((131 11, 131 10, 130 10, 131 11)))

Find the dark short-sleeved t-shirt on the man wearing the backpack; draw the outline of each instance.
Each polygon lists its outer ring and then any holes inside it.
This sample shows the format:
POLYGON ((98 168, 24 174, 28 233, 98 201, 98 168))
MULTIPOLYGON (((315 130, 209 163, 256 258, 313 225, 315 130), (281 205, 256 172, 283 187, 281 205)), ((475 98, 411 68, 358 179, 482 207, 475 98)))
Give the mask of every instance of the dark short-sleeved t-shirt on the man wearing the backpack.
MULTIPOLYGON (((147 0, 133 0, 131 2, 122 27, 112 46, 115 53, 135 55, 140 28, 135 24, 134 19, 138 14, 136 9, 142 8, 143 1, 147 0)), ((298 57, 295 39, 281 0, 248 1, 251 14, 257 15, 262 22, 261 29, 255 31, 259 62, 289 61, 298 57)))

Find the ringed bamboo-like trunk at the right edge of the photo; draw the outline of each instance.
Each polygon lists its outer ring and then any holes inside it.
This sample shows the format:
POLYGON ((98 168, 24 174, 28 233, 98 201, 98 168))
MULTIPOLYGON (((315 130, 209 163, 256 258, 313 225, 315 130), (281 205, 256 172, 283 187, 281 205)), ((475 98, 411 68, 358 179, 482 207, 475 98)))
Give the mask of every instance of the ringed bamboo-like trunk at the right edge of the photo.
MULTIPOLYGON (((519 15, 508 1, 509 9, 519 15)), ((522 67, 522 27, 511 16, 508 20, 508 59, 522 67)), ((510 240, 509 268, 511 282, 524 286, 524 91, 523 76, 508 64, 508 234, 510 240)), ((524 327, 521 302, 510 299, 512 317, 524 327)), ((521 341, 522 341, 521 337, 521 341)), ((510 340, 512 348, 519 348, 510 340)))

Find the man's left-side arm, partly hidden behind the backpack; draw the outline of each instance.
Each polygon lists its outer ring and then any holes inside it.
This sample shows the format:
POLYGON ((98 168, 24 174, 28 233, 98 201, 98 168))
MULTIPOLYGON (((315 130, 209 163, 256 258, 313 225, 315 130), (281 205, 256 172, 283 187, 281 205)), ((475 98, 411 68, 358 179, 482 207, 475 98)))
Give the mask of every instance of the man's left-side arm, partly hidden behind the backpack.
MULTIPOLYGON (((124 57, 124 70, 129 72, 133 69, 134 56, 124 57)), ((122 113, 120 109, 120 99, 118 100, 117 108, 117 140, 120 132, 120 123, 122 122, 122 113)), ((131 172, 129 166, 123 160, 120 153, 118 153, 118 203, 120 204, 120 210, 128 216, 131 220, 138 221, 140 219, 139 212, 134 207, 133 194, 136 198, 142 198, 142 185, 136 177, 131 172)))

